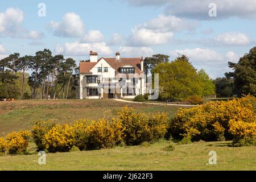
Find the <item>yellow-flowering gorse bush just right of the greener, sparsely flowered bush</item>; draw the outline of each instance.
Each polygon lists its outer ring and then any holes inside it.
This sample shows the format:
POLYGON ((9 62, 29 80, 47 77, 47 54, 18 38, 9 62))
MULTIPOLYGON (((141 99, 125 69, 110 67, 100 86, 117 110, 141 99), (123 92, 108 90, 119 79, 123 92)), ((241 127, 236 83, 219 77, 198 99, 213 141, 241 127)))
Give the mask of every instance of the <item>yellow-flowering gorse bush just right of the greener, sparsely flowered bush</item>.
POLYGON ((69 125, 55 125, 43 138, 49 152, 68 152, 75 143, 75 135, 69 125))

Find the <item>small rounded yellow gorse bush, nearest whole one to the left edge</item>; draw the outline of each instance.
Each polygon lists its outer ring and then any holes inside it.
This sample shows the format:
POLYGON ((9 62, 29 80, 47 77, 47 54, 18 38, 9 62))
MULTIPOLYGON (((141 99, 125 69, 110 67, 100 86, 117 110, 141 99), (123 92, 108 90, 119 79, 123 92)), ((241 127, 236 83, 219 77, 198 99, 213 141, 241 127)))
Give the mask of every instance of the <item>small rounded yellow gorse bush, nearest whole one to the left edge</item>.
POLYGON ((24 154, 28 146, 28 135, 28 131, 12 132, 8 134, 6 140, 9 154, 24 154))

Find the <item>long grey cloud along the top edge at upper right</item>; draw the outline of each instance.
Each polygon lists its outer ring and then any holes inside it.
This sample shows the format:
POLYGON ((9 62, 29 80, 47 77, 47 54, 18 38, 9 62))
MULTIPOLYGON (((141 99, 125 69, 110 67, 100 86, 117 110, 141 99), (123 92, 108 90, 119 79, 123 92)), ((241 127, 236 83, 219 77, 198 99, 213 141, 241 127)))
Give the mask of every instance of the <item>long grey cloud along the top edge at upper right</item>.
POLYGON ((165 6, 166 14, 194 19, 256 18, 255 0, 127 0, 135 6, 165 6), (210 18, 209 3, 216 3, 217 17, 210 18))

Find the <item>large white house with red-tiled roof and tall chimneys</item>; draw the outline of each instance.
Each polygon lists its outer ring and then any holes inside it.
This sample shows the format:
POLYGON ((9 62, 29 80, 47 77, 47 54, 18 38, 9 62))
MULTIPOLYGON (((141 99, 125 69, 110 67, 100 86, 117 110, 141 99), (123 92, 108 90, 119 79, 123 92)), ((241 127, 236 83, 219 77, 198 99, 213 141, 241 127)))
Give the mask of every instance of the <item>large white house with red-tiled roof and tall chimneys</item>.
POLYGON ((80 99, 134 98, 146 92, 143 57, 101 57, 90 51, 90 60, 79 63, 80 99))

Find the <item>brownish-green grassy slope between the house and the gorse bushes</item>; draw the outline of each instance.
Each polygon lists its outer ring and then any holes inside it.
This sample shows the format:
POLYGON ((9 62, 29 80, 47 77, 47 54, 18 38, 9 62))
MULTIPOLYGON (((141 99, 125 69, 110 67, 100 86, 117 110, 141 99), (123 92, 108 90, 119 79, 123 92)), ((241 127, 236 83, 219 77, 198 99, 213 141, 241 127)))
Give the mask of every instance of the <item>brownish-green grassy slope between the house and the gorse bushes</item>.
POLYGON ((0 102, 0 137, 11 131, 30 130, 35 119, 59 119, 60 123, 72 123, 76 119, 114 117, 123 106, 137 111, 164 111, 171 117, 180 106, 147 105, 114 100, 18 100, 0 102))

